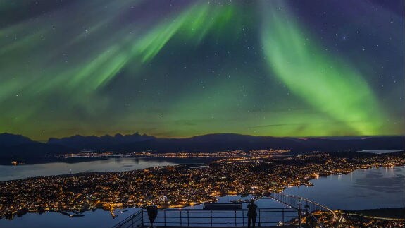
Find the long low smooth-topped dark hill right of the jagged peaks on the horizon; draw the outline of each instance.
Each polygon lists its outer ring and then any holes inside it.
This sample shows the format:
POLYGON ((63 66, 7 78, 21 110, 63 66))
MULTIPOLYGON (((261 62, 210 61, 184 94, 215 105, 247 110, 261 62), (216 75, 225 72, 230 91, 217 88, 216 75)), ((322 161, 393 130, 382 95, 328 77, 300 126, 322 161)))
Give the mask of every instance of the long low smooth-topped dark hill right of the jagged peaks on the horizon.
POLYGON ((218 150, 289 149, 292 152, 342 150, 404 150, 405 136, 370 137, 354 139, 328 138, 275 138, 270 136, 244 136, 232 133, 194 136, 192 138, 154 138, 139 143, 120 145, 118 150, 155 150, 157 152, 218 150))

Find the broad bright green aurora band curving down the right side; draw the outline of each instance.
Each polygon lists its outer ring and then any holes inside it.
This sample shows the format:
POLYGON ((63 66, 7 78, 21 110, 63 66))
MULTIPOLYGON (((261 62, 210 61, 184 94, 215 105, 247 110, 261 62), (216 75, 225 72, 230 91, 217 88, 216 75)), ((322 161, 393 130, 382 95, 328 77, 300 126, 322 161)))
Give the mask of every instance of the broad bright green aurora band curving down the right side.
MULTIPOLYGON (((295 95, 359 135, 375 135, 385 114, 366 80, 338 56, 323 53, 288 13, 263 7, 261 42, 268 66, 295 95)), ((326 127, 326 126, 325 126, 326 127)))

